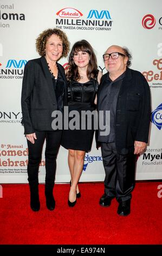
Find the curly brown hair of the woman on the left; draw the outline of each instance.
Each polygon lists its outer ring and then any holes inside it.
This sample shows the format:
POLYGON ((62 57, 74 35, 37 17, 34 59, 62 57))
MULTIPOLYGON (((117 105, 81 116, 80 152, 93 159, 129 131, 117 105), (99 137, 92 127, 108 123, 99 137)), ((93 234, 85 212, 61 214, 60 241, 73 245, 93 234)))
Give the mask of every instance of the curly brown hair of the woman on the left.
POLYGON ((38 35, 36 39, 36 51, 40 54, 40 56, 44 56, 47 40, 53 34, 59 36, 59 38, 62 41, 62 44, 63 44, 62 57, 67 57, 68 52, 70 50, 70 42, 67 38, 66 33, 64 33, 63 31, 57 28, 48 28, 44 30, 40 35, 38 35))

